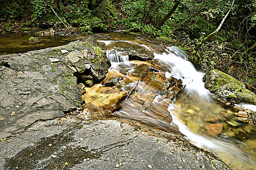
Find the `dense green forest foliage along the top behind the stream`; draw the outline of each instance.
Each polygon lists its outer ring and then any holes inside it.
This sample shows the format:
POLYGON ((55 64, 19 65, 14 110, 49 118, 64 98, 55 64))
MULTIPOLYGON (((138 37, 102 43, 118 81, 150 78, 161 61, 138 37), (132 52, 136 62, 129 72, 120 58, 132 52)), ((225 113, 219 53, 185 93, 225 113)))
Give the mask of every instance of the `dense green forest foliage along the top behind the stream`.
POLYGON ((205 42, 196 56, 193 52, 218 27, 232 0, 181 0, 160 29, 156 26, 170 12, 175 0, 68 0, 67 5, 62 0, 59 5, 57 0, 6 0, 0 17, 12 22, 26 16, 24 20, 32 19, 35 24, 48 19, 55 27, 63 27, 44 2, 54 8, 65 24, 82 32, 127 30, 158 36, 187 49, 191 54, 189 60, 197 68, 227 71, 231 64, 239 63, 241 74, 247 68, 248 75, 256 77, 253 50, 243 61, 239 59, 239 54, 256 41, 256 0, 235 1, 221 29, 205 42))

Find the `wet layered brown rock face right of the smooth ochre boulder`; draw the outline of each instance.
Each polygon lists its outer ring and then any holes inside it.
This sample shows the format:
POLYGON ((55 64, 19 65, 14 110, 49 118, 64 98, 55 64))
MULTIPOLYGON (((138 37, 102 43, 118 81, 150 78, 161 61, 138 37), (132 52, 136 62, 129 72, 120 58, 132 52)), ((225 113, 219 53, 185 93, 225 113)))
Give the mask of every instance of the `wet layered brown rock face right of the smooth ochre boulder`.
MULTIPOLYGON (((133 69, 129 72, 129 76, 124 77, 117 84, 118 88, 127 91, 129 98, 122 102, 122 109, 115 114, 178 133, 177 127, 170 125, 172 118, 167 108, 183 89, 181 80, 175 78, 166 80, 165 74, 154 72, 156 69, 152 69, 154 66, 150 63, 134 63, 136 64, 131 65, 133 69)), ((120 70, 120 72, 126 74, 126 71, 120 70)))

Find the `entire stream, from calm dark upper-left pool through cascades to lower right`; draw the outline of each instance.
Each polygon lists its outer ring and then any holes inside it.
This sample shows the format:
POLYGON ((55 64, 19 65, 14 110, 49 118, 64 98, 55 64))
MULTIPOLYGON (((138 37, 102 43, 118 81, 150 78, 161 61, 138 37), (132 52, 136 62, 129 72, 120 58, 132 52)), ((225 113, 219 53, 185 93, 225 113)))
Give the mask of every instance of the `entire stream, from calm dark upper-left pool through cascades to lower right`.
MULTIPOLYGON (((72 40, 85 39, 88 36, 73 38, 45 36, 40 43, 28 43, 29 35, 15 35, 0 37, 0 54, 19 53, 38 50, 52 46, 66 44, 72 40), (8 47, 6 47, 8 44, 8 47)), ((143 96, 145 85, 142 81, 131 78, 136 61, 130 61, 129 55, 122 48, 111 49, 113 43, 125 42, 127 45, 139 46, 153 54, 153 59, 158 61, 165 70, 165 78, 173 76, 181 79, 185 86, 173 102, 168 102, 156 95, 148 108, 141 105, 140 100, 130 97, 121 103, 122 108, 114 114, 128 119, 144 120, 149 125, 160 124, 162 127, 176 128, 192 144, 214 153, 233 169, 255 170, 256 167, 256 128, 253 124, 232 126, 228 119, 234 118, 235 113, 224 103, 217 100, 213 94, 204 87, 202 78, 204 73, 197 71, 191 62, 187 61, 187 54, 178 47, 166 47, 154 43, 149 39, 137 38, 134 35, 120 33, 94 34, 94 37, 106 50, 111 62, 109 72, 122 74, 129 77, 138 93, 138 98, 143 96), (117 50, 119 49, 119 50, 117 50), (125 70, 125 71, 124 71, 125 70), (141 95, 141 96, 139 96, 141 95), (146 113, 146 114, 138 114, 146 113), (223 114, 224 113, 224 114, 223 114), (154 119, 155 115, 171 115, 171 123, 154 119), (206 133, 205 127, 212 124, 212 120, 222 124, 223 130, 217 136, 206 133)), ((149 91, 150 93, 150 91, 149 91)), ((255 105, 241 103, 242 107, 256 111, 255 105)), ((158 126, 161 128, 161 126, 158 126)), ((165 128, 162 128, 165 130, 165 128)), ((172 133, 176 133, 174 130, 172 133)))

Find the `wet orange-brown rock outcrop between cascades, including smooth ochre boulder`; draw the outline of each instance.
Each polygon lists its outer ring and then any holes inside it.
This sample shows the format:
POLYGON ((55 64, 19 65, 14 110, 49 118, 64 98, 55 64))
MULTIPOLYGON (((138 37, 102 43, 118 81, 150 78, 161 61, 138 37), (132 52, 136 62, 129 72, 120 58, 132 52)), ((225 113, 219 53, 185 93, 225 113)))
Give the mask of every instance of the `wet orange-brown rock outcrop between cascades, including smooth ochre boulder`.
POLYGON ((82 95, 87 110, 84 115, 88 118, 115 111, 118 117, 180 134, 176 125, 170 125, 172 118, 167 108, 183 89, 182 82, 173 77, 167 79, 164 69, 155 65, 155 61, 119 64, 117 70, 107 73, 102 84, 105 86, 85 88, 82 95))

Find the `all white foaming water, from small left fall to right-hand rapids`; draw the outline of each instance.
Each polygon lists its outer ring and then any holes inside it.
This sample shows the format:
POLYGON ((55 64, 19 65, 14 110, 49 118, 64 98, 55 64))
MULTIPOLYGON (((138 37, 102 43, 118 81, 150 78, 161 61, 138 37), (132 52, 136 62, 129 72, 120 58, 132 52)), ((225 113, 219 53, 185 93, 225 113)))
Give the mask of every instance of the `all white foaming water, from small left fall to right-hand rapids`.
MULTIPOLYGON (((149 47, 146 45, 140 44, 140 46, 143 46, 146 49, 150 50, 149 47)), ((165 73, 166 78, 173 76, 177 79, 181 79, 183 81, 183 85, 185 86, 185 93, 188 96, 193 96, 192 98, 196 100, 196 104, 201 105, 201 107, 208 107, 214 109, 214 104, 216 103, 214 103, 213 95, 210 93, 209 90, 207 90, 204 87, 204 83, 202 81, 204 74, 202 72, 197 71, 192 65, 192 63, 187 61, 187 54, 184 51, 180 50, 177 47, 170 47, 168 48, 167 53, 154 53, 154 55, 154 59, 159 60, 160 63, 168 67, 165 73)), ((107 51, 107 56, 111 61, 112 65, 110 69, 115 69, 115 67, 119 63, 130 63, 128 62, 128 56, 120 56, 118 51, 107 51)), ((128 71, 127 75, 129 74, 129 72, 132 72, 132 70, 128 71)), ((140 85, 138 85, 138 88, 139 87, 140 85)), ((159 97, 160 95, 156 96, 155 99, 153 100, 153 103, 160 104, 158 100, 159 97)), ((256 111, 255 105, 250 105, 246 103, 241 103, 240 105, 242 107, 256 111)), ((239 150, 239 145, 235 145, 234 143, 229 141, 228 138, 224 138, 224 141, 223 136, 222 139, 218 139, 216 137, 214 138, 204 134, 198 135, 192 132, 192 130, 190 130, 187 127, 185 121, 182 120, 182 116, 178 113, 182 109, 183 108, 179 108, 179 106, 177 106, 175 102, 172 102, 168 105, 168 111, 170 112, 172 117, 171 123, 177 125, 179 131, 189 141, 191 141, 192 144, 196 145, 197 147, 213 152, 217 156, 225 159, 225 161, 232 163, 235 160, 235 166, 242 167, 243 164, 237 165, 236 163, 243 162, 250 165, 248 166, 249 169, 253 169, 251 167, 254 167, 256 161, 251 158, 251 155, 249 153, 245 153, 239 150)), ((207 109, 205 110, 208 111, 207 109)), ((199 117, 202 116, 199 114, 196 115, 196 117, 198 117, 199 119, 199 117)), ((207 117, 207 115, 205 117, 207 117)), ((241 142, 241 144, 244 145, 243 142, 241 142)))

